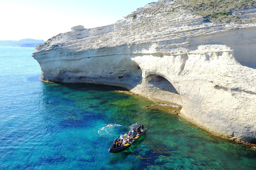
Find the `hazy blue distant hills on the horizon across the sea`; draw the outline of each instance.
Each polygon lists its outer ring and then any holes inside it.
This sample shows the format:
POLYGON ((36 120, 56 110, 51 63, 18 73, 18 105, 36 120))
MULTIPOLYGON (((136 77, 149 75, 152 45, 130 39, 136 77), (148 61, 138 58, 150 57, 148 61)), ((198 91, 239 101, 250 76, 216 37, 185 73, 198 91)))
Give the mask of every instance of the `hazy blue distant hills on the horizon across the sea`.
POLYGON ((34 40, 34 39, 22 39, 19 41, 0 41, 0 46, 21 46, 21 47, 35 47, 43 43, 43 40, 34 40))

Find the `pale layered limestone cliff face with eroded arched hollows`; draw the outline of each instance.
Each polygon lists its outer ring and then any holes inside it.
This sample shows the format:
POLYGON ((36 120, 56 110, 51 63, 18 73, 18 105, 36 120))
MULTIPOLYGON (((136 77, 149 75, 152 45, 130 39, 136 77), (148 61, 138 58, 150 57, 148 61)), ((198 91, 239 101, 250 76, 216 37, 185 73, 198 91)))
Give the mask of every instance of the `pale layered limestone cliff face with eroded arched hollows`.
POLYGON ((49 39, 33 53, 41 80, 125 87, 182 106, 184 118, 213 134, 253 142, 255 6, 241 10, 248 21, 218 24, 173 12, 177 2, 151 3, 113 25, 73 27, 49 39))

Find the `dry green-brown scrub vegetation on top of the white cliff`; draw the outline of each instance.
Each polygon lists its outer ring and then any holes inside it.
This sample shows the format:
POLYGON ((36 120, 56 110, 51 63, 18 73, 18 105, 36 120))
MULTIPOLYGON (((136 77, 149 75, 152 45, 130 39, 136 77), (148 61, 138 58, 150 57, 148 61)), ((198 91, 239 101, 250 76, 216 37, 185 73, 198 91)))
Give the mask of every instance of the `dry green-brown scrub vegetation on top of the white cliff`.
POLYGON ((255 8, 256 0, 177 0, 168 5, 160 4, 144 13, 157 15, 159 13, 173 14, 186 10, 189 13, 202 16, 205 22, 240 22, 255 20, 240 18, 240 11, 255 8))

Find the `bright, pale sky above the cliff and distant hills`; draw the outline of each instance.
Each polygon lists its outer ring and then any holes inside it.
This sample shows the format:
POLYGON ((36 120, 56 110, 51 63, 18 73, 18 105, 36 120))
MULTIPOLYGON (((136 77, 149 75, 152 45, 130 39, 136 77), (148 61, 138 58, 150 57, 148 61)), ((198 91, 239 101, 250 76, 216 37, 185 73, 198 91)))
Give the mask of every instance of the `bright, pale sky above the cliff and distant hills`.
POLYGON ((70 28, 94 28, 123 19, 157 0, 0 0, 0 40, 46 41, 70 28))

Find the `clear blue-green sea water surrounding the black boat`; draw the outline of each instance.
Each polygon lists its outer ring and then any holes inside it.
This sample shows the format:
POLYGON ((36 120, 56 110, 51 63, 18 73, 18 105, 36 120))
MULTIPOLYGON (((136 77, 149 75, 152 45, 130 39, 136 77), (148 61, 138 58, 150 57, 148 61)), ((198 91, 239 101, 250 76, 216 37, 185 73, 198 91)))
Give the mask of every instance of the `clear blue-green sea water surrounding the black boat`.
POLYGON ((148 99, 109 86, 41 82, 33 51, 0 47, 1 170, 256 169, 254 148, 149 110, 148 99), (113 139, 136 122, 147 133, 110 154, 113 139))

